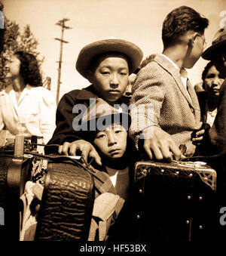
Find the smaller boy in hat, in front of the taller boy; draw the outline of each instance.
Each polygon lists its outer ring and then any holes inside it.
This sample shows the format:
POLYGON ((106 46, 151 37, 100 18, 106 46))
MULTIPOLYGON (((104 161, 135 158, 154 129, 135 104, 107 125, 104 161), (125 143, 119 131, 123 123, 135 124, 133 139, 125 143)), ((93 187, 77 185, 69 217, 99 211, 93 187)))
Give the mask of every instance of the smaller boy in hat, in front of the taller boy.
MULTIPOLYGON (((111 177, 111 182, 116 193, 127 200, 130 184, 129 166, 133 143, 127 137, 130 127, 130 114, 120 112, 119 109, 109 105, 101 98, 96 99, 95 104, 90 104, 86 114, 81 120, 87 122, 86 138, 93 144, 102 159, 102 167, 97 166, 99 171, 104 171, 111 177), (90 123, 95 122, 95 131, 90 131, 90 123), (130 155, 128 151, 130 150, 130 155)), ((134 160, 134 157, 133 157, 134 160)), ((94 163, 94 165, 95 163, 94 163)))

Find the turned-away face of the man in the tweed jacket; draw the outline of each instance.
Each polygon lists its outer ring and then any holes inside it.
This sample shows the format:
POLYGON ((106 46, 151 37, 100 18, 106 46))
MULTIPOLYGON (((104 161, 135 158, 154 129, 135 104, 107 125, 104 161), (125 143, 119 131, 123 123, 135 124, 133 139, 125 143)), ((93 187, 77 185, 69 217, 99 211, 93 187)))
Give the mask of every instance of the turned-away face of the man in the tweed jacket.
POLYGON ((183 63, 183 67, 191 69, 200 56, 203 54, 204 47, 206 45, 205 35, 201 33, 195 33, 194 39, 188 45, 188 51, 183 63))

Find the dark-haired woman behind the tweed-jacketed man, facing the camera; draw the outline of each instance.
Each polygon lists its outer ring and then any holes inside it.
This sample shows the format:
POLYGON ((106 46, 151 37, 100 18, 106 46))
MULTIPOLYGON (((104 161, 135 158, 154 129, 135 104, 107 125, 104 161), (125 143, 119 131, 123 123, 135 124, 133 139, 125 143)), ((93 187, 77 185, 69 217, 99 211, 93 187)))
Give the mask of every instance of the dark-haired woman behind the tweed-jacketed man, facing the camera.
POLYGON ((201 109, 201 121, 212 126, 217 113, 218 96, 224 79, 219 76, 215 63, 210 61, 202 74, 204 91, 197 92, 201 109))

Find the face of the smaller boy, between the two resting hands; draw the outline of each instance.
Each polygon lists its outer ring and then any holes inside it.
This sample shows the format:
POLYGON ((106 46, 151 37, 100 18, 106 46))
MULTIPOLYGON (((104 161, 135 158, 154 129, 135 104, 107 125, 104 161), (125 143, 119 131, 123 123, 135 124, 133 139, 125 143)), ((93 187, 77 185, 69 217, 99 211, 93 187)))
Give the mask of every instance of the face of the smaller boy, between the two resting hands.
POLYGON ((127 148, 127 131, 120 124, 109 125, 96 133, 93 143, 106 159, 120 159, 127 148))

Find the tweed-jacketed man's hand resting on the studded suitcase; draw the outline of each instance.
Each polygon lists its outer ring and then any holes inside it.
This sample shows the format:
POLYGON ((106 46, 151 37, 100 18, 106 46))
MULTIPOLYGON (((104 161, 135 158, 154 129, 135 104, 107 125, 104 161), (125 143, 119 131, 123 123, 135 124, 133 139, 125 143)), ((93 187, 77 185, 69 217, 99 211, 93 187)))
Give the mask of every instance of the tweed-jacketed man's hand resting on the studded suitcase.
POLYGON ((148 127, 143 131, 144 137, 144 149, 150 159, 162 160, 166 159, 172 162, 185 158, 179 147, 176 146, 173 138, 166 131, 163 131, 160 127, 148 127), (149 137, 146 134, 151 134, 149 137))

